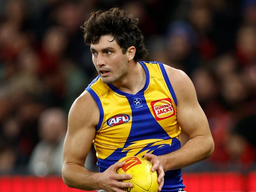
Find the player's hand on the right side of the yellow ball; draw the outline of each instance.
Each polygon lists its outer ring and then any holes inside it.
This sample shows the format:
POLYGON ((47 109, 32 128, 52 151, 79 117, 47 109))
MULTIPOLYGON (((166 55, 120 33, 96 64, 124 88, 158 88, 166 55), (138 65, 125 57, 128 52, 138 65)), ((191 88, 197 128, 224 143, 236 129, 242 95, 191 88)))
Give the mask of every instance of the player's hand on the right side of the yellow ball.
POLYGON ((164 165, 163 162, 161 162, 161 158, 159 158, 156 155, 153 155, 151 153, 146 153, 144 155, 151 163, 152 168, 151 171, 154 172, 155 170, 158 173, 157 182, 159 184, 158 191, 160 192, 162 190, 162 187, 164 185, 164 165))

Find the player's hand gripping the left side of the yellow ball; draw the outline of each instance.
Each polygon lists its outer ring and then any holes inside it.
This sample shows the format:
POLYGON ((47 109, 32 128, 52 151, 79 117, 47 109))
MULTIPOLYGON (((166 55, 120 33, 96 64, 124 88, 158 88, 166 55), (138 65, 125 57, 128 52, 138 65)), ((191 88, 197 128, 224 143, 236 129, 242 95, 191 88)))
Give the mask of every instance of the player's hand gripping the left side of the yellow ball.
POLYGON ((98 183, 99 189, 104 189, 107 192, 125 192, 123 188, 133 188, 132 183, 122 182, 120 180, 131 179, 130 174, 118 174, 116 171, 125 165, 125 162, 116 162, 107 170, 99 174, 98 183))

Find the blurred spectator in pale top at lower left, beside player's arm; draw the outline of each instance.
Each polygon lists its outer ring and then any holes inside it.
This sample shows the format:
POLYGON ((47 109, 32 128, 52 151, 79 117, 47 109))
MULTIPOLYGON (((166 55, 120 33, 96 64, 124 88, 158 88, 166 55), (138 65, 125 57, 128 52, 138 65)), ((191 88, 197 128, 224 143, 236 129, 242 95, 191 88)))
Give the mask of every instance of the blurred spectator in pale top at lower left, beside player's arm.
POLYGON ((35 146, 29 162, 32 174, 60 175, 67 117, 58 108, 45 110, 39 118, 40 142, 35 146))

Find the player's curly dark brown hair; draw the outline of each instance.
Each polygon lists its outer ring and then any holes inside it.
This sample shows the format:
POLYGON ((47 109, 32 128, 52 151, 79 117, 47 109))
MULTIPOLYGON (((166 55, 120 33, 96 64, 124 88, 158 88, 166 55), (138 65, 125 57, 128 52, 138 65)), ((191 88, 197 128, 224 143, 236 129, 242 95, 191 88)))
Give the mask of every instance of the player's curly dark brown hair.
POLYGON ((145 58, 148 54, 144 45, 144 36, 138 28, 138 19, 118 7, 105 12, 91 13, 90 18, 81 28, 87 45, 97 44, 102 35, 110 34, 122 48, 123 54, 131 46, 136 48, 135 61, 145 58))

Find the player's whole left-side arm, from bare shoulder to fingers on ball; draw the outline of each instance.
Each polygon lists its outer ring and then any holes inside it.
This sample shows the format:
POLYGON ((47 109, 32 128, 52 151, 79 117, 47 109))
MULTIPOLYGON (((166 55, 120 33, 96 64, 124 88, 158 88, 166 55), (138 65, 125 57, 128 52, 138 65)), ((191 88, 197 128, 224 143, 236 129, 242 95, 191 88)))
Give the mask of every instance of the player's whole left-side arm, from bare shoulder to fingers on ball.
POLYGON ((94 173, 84 168, 98 121, 97 104, 90 93, 84 91, 69 111, 63 152, 63 181, 69 187, 82 190, 104 189, 108 192, 124 192, 121 188, 131 188, 132 184, 120 180, 130 179, 131 175, 117 174, 116 170, 125 162, 116 162, 102 173, 94 173))

